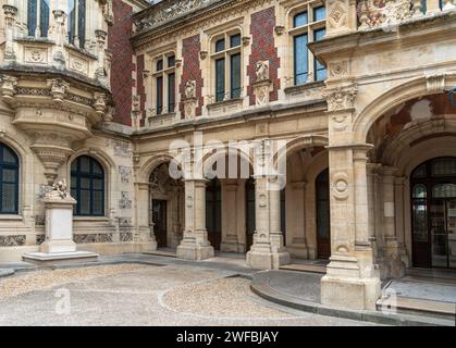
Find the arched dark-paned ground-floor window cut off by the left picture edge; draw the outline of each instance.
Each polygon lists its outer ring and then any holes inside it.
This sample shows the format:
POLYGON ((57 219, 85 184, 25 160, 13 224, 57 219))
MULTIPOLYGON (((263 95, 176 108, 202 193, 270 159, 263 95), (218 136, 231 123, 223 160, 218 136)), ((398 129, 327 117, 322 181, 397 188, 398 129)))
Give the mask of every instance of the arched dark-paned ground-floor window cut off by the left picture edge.
POLYGON ((3 144, 0 144, 0 214, 17 214, 19 159, 3 144))

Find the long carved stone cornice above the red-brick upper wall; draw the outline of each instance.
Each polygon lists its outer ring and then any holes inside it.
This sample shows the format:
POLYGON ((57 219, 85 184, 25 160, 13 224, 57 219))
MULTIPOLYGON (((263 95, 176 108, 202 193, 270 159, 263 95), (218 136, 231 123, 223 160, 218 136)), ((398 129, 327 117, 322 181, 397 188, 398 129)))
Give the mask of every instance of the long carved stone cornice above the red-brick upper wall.
MULTIPOLYGON (((254 8, 263 8, 268 4, 274 5, 274 0, 212 0, 209 4, 197 8, 194 11, 182 13, 168 21, 163 21, 148 29, 134 35, 131 39, 132 45, 138 49, 144 45, 151 45, 160 38, 168 39, 171 36, 182 35, 192 30, 201 29, 210 26, 214 22, 223 22, 224 18, 237 11, 243 15, 246 11, 254 8)), ((138 12, 134 15, 134 21, 148 15, 153 7, 138 12)))

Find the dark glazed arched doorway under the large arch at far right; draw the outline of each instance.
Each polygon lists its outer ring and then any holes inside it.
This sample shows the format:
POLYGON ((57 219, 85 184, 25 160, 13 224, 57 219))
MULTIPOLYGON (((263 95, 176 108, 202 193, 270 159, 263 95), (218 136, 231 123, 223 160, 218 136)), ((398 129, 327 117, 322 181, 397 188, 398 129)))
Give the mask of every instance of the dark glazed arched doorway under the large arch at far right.
POLYGON ((456 268, 456 158, 418 165, 410 176, 412 263, 456 268))

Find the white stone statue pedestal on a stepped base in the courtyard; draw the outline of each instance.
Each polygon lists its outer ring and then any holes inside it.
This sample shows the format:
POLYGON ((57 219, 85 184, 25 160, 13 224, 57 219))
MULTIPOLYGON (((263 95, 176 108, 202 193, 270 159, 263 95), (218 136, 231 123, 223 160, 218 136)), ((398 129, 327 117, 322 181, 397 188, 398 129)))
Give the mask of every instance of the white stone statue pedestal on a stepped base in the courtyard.
POLYGON ((40 252, 24 254, 24 261, 44 265, 97 260, 97 253, 76 251, 76 244, 73 241, 75 203, 76 200, 69 196, 62 198, 51 194, 45 198, 46 240, 41 244, 40 252))

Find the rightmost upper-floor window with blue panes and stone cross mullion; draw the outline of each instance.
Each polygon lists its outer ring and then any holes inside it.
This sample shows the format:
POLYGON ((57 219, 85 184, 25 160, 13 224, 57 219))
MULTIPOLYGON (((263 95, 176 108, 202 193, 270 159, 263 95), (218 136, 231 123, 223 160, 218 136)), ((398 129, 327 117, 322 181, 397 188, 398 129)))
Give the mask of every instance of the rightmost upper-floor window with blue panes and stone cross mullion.
POLYGON ((294 85, 326 79, 326 70, 308 50, 307 44, 321 40, 325 35, 324 5, 309 2, 292 11, 289 35, 293 49, 294 85))

